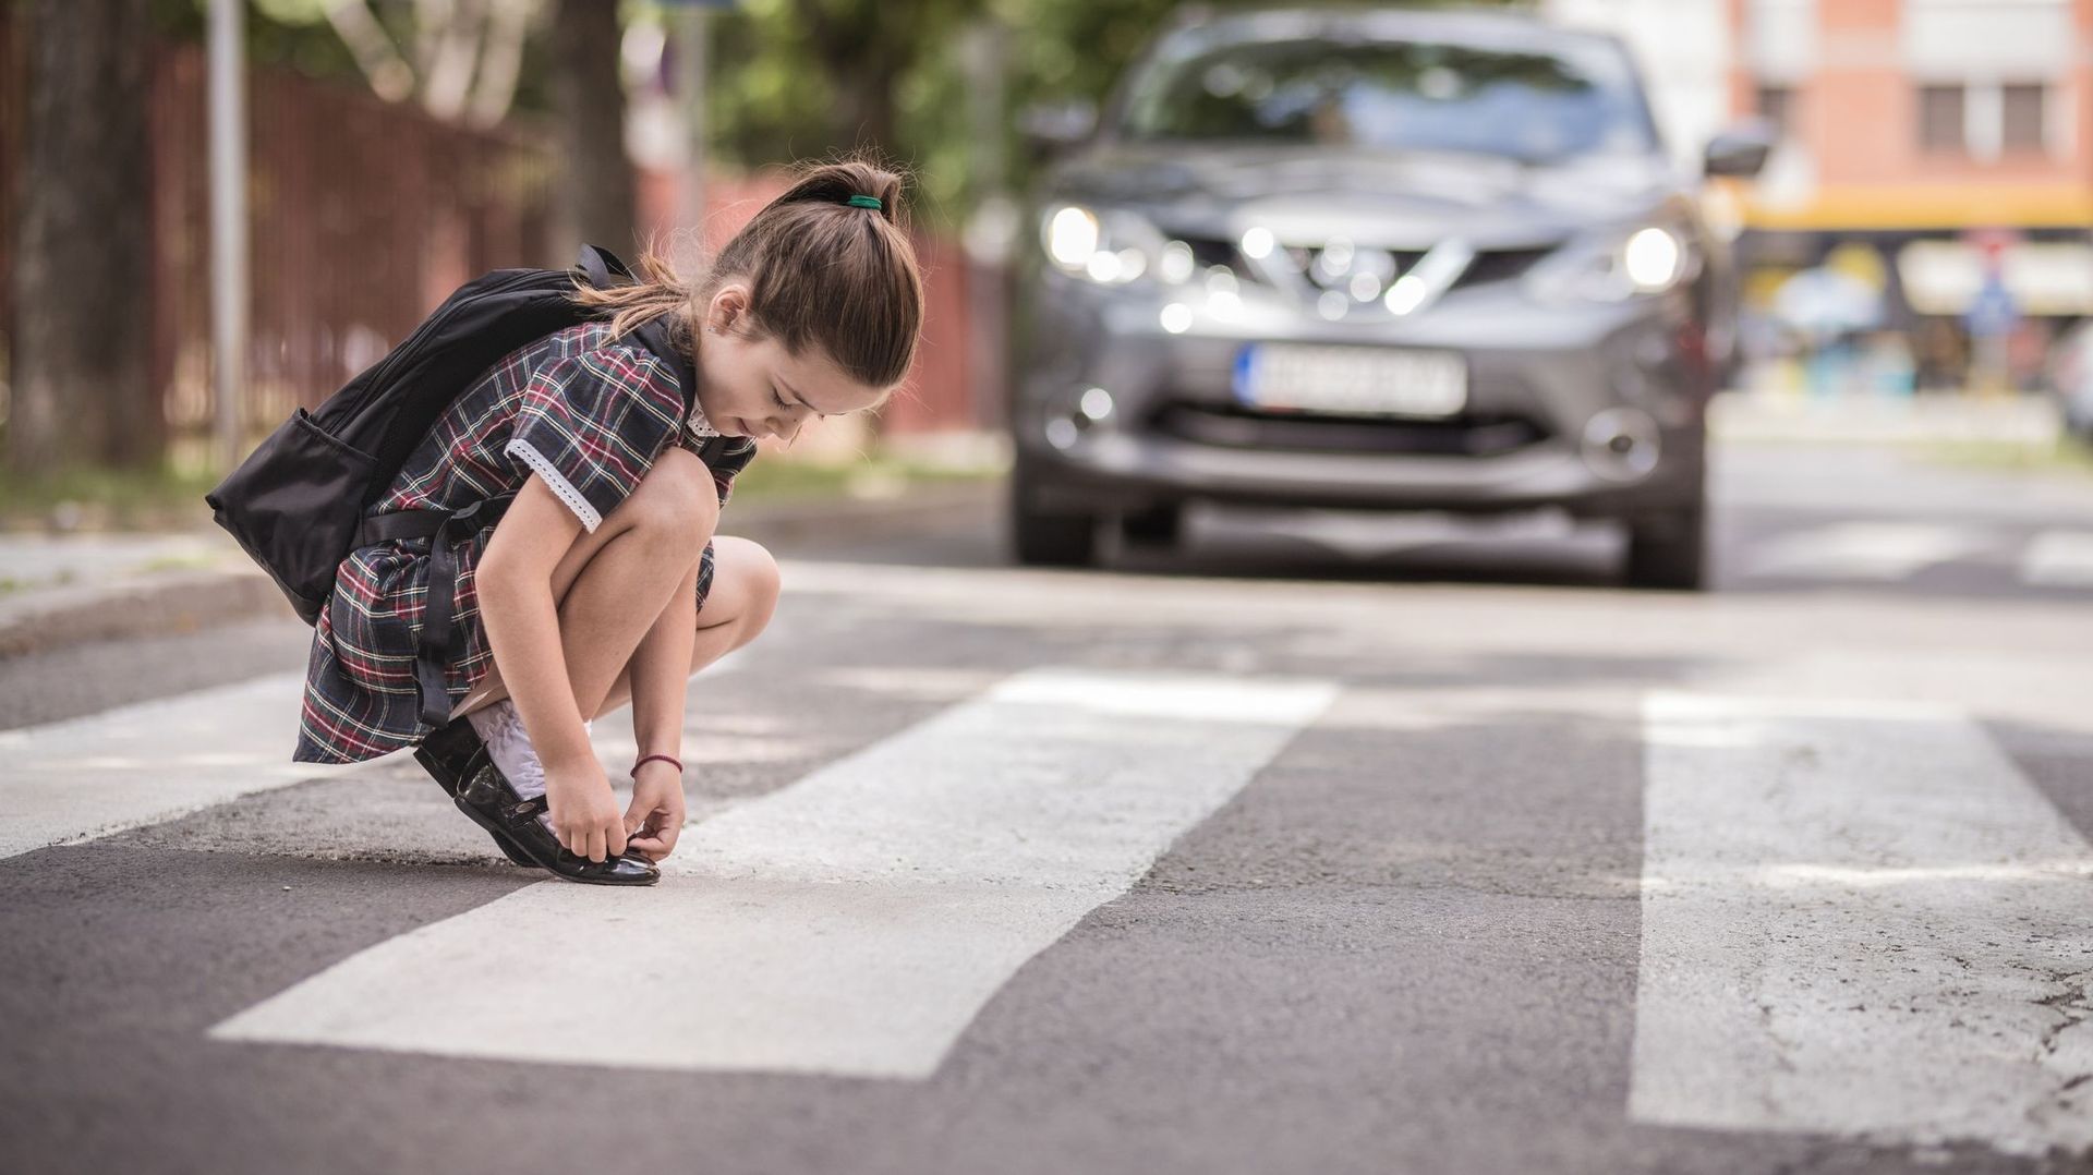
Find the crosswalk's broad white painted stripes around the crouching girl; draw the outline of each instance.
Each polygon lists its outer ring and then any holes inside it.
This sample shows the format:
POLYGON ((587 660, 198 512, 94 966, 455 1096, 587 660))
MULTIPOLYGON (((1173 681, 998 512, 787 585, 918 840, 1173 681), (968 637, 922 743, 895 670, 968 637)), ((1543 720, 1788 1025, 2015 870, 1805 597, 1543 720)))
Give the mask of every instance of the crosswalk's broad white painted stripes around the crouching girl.
MULTIPOLYGON (((525 884, 207 1037, 921 1083, 1019 968, 1258 788, 1344 695, 1308 674, 1011 672, 707 813, 651 890, 525 884), (605 984, 649 1007, 649 1030, 588 1051, 605 984)), ((0 733, 0 857, 377 769, 285 762, 295 697, 295 677, 266 677, 0 733)), ((2093 846, 1970 712, 1639 697, 1624 1121, 2093 1148, 2093 846)), ((1400 1064, 1400 1041, 1388 1054, 1400 1064)))

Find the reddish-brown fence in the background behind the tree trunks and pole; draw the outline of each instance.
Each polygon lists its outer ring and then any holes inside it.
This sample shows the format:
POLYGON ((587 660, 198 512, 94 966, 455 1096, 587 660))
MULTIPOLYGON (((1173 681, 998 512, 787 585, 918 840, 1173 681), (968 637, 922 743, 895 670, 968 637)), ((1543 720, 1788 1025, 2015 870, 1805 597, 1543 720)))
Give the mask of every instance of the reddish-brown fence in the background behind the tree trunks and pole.
MULTIPOLYGON (((0 161, 19 159, 23 46, 0 21, 0 161)), ((153 379, 167 434, 201 442, 209 392, 209 176, 201 46, 170 44, 153 69, 153 379)), ((312 406, 383 356, 454 287, 490 268, 550 266, 550 136, 523 124, 469 130, 343 84, 249 73, 251 327, 241 417, 251 438, 312 406)), ((13 172, 13 168, 6 168, 13 172)), ((0 176, 0 272, 15 245, 15 176, 0 176)), ((659 180, 659 176, 649 176, 659 180)), ((649 184, 643 182, 643 191, 649 184)), ((657 184, 655 184, 657 186, 657 184)), ((712 180, 724 243, 781 184, 712 180)), ((643 197, 643 205, 653 203, 643 197)), ((655 205, 659 207, 659 203, 655 205)), ((666 212, 666 209, 663 209, 666 212)), ((651 220, 643 207, 643 220, 651 220)), ((973 318, 992 285, 957 243, 917 239, 927 320, 906 394, 885 429, 992 423, 996 371, 973 318)), ((10 291, 0 283, 0 356, 10 291)), ((992 300, 990 300, 992 302, 992 300)), ((986 320, 984 320, 986 323, 986 320)))

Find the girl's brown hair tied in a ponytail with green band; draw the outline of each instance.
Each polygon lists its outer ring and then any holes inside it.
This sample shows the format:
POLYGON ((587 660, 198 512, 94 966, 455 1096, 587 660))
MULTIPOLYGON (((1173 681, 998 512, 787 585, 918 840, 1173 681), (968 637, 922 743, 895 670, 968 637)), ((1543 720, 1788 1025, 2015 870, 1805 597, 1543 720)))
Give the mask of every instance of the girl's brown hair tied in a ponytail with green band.
POLYGON ((743 279, 749 312, 735 335, 777 337, 793 356, 812 341, 858 383, 900 383, 923 327, 923 274, 900 214, 902 176, 862 155, 802 161, 791 174, 785 195, 735 232, 705 276, 684 281, 647 249, 636 285, 594 289, 578 279, 573 300, 607 310, 615 335, 668 314, 676 343, 693 346, 712 295, 743 279), (879 207, 843 203, 854 195, 879 197, 879 207))

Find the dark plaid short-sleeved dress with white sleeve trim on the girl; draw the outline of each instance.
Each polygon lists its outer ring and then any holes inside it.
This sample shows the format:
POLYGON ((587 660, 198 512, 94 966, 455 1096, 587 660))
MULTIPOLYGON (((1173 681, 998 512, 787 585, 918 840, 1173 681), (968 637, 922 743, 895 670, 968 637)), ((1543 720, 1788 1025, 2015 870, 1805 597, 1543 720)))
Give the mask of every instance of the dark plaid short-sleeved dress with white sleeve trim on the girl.
MULTIPOLYGON (((590 532, 638 488, 666 444, 697 450, 714 431, 701 413, 682 419, 670 369, 638 339, 611 339, 605 323, 582 323, 532 341, 481 375, 437 419, 391 488, 366 513, 460 509, 523 488, 538 473, 590 532)), ((724 505, 733 478, 756 455, 737 438, 712 465, 724 505)), ((452 653, 444 666, 450 704, 486 677, 492 649, 479 624, 473 570, 492 528, 458 545, 452 653)), ((697 603, 712 589, 712 545, 697 603)), ((414 649, 429 593, 429 540, 387 538, 352 551, 335 570, 335 593, 312 635, 306 702, 293 762, 358 762, 427 735, 414 649)))

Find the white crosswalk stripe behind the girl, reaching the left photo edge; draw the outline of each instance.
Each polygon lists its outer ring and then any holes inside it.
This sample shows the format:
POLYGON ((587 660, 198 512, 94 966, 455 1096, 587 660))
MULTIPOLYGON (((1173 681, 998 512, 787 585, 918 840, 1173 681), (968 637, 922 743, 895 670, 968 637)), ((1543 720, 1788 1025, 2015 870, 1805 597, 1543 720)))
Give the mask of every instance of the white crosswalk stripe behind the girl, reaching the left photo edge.
POLYGON ((0 857, 354 771, 291 762, 303 689, 303 674, 270 674, 0 731, 0 857))

